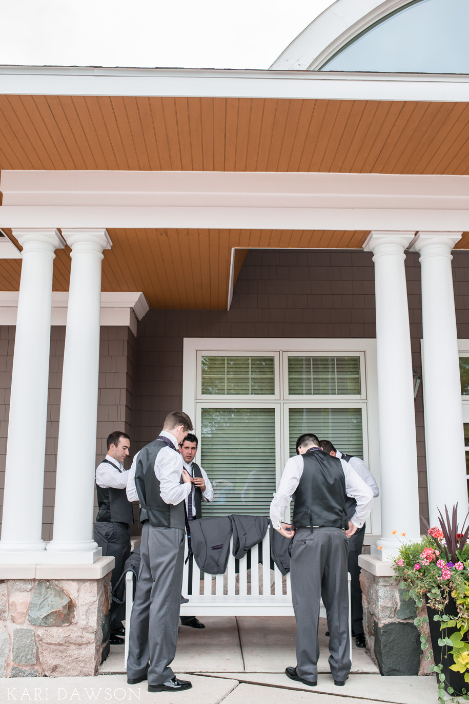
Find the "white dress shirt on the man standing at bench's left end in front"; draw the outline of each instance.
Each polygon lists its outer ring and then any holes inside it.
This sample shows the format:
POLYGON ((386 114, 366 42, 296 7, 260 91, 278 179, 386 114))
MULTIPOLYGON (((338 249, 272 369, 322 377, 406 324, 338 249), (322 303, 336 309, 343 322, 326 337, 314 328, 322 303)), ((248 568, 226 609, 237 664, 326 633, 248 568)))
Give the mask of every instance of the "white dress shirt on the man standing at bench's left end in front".
MULTIPOLYGON (((177 449, 179 443, 171 433, 167 430, 162 430, 160 435, 172 441, 172 444, 177 449)), ((139 501, 135 486, 135 470, 139 452, 136 453, 132 466, 129 470, 129 481, 127 482, 127 498, 129 501, 139 501)), ((174 452, 170 447, 161 448, 155 459, 155 477, 160 482, 160 495, 165 503, 172 503, 176 506, 181 501, 184 501, 191 491, 192 484, 185 482, 181 484, 182 474, 182 457, 178 452, 174 452)))

